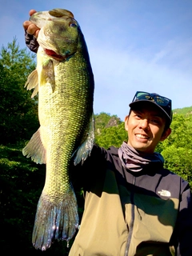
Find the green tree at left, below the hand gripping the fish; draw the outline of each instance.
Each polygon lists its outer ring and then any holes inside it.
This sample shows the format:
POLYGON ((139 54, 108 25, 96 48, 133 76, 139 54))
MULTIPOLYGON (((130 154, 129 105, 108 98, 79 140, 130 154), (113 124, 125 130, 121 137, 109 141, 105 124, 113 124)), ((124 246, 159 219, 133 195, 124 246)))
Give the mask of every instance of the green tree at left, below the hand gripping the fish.
POLYGON ((2 46, 0 53, 0 143, 28 139, 38 129, 37 102, 24 88, 34 61, 26 50, 19 50, 16 39, 2 46))

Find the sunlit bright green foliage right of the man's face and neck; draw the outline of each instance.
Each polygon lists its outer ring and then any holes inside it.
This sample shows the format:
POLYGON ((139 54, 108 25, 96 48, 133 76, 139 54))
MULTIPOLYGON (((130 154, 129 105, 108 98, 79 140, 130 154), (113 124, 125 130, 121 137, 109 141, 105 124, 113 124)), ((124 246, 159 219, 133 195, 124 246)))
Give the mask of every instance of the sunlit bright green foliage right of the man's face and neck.
POLYGON ((174 114, 171 134, 156 148, 165 159, 165 167, 190 183, 192 189, 192 116, 174 114))

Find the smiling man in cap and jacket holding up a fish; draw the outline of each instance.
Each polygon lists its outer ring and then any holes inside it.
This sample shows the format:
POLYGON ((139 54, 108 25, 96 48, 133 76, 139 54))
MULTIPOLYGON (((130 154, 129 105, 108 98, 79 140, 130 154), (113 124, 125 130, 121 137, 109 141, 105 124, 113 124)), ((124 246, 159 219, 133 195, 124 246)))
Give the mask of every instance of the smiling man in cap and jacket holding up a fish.
MULTIPOLYGON (((33 14, 34 10, 30 11, 33 14)), ((38 50, 38 27, 23 23, 26 44, 38 50)), ((82 222, 70 256, 175 254, 190 256, 191 194, 188 182, 163 168, 158 142, 170 135, 171 100, 137 92, 125 118, 128 142, 118 149, 94 146, 72 178, 85 193, 82 222)))

